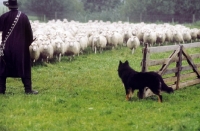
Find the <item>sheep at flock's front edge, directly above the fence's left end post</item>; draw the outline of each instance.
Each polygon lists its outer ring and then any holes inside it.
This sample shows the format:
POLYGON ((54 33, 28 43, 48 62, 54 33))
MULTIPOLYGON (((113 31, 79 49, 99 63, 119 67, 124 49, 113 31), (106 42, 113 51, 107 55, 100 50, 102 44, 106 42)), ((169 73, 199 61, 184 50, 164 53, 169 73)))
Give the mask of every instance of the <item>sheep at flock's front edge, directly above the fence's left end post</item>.
POLYGON ((156 38, 156 32, 148 30, 143 36, 144 44, 149 44, 149 46, 152 46, 154 43, 156 43, 156 38))

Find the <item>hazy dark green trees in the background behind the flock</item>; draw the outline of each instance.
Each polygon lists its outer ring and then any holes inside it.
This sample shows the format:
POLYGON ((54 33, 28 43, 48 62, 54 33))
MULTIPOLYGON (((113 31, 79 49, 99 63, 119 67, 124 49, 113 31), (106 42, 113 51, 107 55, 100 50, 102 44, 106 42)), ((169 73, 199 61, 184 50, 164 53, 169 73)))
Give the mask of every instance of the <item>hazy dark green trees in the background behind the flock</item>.
POLYGON ((47 19, 177 22, 199 20, 198 0, 20 0, 20 9, 47 19), (193 19, 193 20, 194 20, 193 19))

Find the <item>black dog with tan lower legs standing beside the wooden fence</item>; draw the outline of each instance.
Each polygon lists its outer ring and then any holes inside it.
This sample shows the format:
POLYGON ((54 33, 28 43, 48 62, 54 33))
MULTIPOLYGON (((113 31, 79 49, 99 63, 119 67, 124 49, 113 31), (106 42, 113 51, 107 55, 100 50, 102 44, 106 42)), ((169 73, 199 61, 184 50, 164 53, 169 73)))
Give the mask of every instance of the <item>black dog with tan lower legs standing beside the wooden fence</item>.
POLYGON ((121 78, 126 92, 126 99, 130 100, 134 90, 138 89, 138 97, 143 97, 143 92, 148 87, 158 96, 158 102, 162 102, 161 91, 173 93, 173 89, 168 87, 162 77, 156 72, 137 72, 129 66, 129 62, 119 61, 118 75, 121 78))

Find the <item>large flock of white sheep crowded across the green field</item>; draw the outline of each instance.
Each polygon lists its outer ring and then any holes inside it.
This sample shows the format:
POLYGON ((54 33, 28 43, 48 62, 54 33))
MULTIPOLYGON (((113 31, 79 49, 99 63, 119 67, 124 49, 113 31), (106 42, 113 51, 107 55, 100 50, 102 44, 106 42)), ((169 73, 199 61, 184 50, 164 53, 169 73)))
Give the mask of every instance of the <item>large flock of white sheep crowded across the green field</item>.
POLYGON ((105 49, 134 50, 144 44, 161 46, 191 43, 200 39, 200 29, 176 24, 146 24, 88 21, 50 20, 31 21, 35 41, 29 47, 33 62, 67 56, 69 61, 83 53, 102 53, 105 49), (86 50, 87 49, 87 50, 86 50), (86 52, 87 51, 87 52, 86 52))

